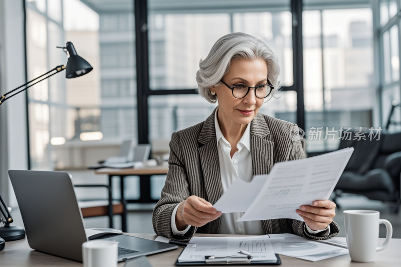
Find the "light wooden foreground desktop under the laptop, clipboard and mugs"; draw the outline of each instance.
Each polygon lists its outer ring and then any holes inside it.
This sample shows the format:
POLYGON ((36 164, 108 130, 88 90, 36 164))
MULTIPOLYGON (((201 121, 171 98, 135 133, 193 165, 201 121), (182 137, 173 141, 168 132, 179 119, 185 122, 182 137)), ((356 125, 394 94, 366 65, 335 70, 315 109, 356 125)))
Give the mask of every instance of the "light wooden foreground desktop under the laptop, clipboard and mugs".
MULTIPOLYGON (((136 237, 145 239, 155 239, 156 234, 147 233, 127 233, 136 237)), ((196 236, 227 236, 223 234, 196 234, 196 236)), ((380 238, 380 242, 383 242, 384 238, 380 238)), ((172 267, 175 266, 175 260, 181 253, 182 247, 178 249, 170 250, 167 252, 157 253, 149 255, 147 258, 153 267, 172 267)), ((374 262, 361 263, 353 262, 349 255, 342 255, 333 257, 325 260, 311 262, 303 259, 287 257, 280 255, 281 266, 315 266, 315 267, 346 267, 346 266, 358 266, 358 267, 386 267, 386 266, 399 266, 401 262, 401 239, 392 239, 388 244, 387 248, 376 252, 376 259, 374 262)), ((6 248, 0 251, 0 263, 2 266, 82 266, 81 262, 52 256, 46 253, 38 252, 29 247, 27 239, 11 241, 6 243, 6 248)), ((119 267, 122 267, 124 262, 118 263, 119 267)))

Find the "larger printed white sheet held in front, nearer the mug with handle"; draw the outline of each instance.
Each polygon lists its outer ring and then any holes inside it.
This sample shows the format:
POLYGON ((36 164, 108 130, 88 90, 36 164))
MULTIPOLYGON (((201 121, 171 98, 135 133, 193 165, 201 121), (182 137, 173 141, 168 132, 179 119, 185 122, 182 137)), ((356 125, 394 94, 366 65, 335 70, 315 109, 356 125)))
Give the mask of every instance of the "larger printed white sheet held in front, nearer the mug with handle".
MULTIPOLYGON (((301 205, 312 205, 314 200, 329 199, 353 150, 345 148, 316 157, 274 164, 262 189, 238 221, 279 218, 303 221, 296 209, 301 205)), ((237 197, 240 196, 237 194, 237 197)))

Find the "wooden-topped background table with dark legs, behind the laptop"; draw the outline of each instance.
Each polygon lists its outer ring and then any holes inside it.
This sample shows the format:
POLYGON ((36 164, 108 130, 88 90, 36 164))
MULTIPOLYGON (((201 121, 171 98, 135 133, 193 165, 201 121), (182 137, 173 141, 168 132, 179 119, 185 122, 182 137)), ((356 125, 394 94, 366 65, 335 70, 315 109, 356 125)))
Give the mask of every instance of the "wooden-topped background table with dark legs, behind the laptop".
POLYGON ((129 169, 109 169, 103 168, 96 170, 96 174, 107 174, 109 177, 109 185, 113 190, 113 183, 111 178, 113 176, 120 177, 120 191, 121 191, 121 203, 123 205, 123 212, 121 214, 121 229, 123 232, 127 232, 127 203, 154 203, 158 199, 152 199, 150 196, 150 176, 167 174, 168 166, 155 166, 155 167, 142 167, 142 168, 129 168, 129 169), (124 178, 127 176, 139 176, 139 199, 124 198, 124 178))

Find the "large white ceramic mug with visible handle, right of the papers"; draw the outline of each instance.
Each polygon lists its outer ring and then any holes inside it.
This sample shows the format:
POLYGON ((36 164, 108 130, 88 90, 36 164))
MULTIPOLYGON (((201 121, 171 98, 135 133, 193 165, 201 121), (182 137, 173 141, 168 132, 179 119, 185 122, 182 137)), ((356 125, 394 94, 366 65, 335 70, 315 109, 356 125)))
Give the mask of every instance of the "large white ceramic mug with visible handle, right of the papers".
POLYGON ((373 261, 375 252, 383 250, 391 240, 391 223, 380 219, 378 211, 344 210, 344 223, 349 255, 354 261, 373 261), (380 223, 386 226, 387 235, 383 244, 377 246, 380 223))

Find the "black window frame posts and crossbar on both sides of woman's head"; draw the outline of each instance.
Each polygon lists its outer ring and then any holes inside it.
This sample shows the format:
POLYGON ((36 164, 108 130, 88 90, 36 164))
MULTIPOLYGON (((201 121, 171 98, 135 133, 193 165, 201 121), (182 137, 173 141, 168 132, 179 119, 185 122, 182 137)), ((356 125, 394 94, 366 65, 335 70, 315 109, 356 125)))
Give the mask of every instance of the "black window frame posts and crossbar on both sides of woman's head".
MULTIPOLYGON (((136 82, 138 143, 149 143, 149 110, 148 98, 154 95, 197 94, 196 89, 151 90, 149 87, 149 44, 148 44, 148 10, 147 0, 133 0, 135 13, 136 44, 136 82), (139 112, 142 111, 142 112, 139 112)), ((297 92, 297 124, 305 128, 305 108, 303 95, 303 61, 302 61, 302 1, 291 0, 292 14, 292 51, 293 51, 293 84, 283 86, 283 91, 297 92)))

